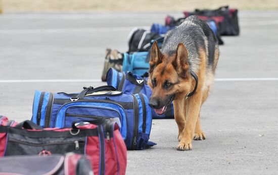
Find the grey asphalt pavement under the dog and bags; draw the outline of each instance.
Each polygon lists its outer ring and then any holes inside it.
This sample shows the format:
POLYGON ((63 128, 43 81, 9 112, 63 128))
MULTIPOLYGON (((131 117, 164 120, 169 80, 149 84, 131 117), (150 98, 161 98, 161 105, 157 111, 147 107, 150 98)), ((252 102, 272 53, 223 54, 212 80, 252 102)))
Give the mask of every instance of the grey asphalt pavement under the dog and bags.
MULTIPOLYGON (((0 15, 0 113, 32 115, 36 89, 101 86, 106 48, 127 51, 134 27, 182 13, 0 15), (80 81, 82 80, 82 81, 80 81), (88 80, 88 81, 86 81, 88 80), (78 82, 79 81, 79 82, 78 82)), ((278 173, 278 11, 240 11, 240 36, 222 37, 216 80, 201 110, 207 139, 177 151, 174 120, 153 120, 153 148, 128 151, 127 174, 278 173)))

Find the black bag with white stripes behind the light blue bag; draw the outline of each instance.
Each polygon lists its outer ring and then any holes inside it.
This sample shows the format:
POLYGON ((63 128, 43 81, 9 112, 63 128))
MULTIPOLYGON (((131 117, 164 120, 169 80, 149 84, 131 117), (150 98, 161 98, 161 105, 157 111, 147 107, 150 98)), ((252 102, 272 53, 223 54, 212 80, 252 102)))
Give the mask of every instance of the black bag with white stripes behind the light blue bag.
POLYGON ((128 53, 138 52, 138 51, 149 51, 151 48, 152 40, 161 38, 157 33, 153 33, 145 29, 133 29, 129 33, 128 39, 128 53))

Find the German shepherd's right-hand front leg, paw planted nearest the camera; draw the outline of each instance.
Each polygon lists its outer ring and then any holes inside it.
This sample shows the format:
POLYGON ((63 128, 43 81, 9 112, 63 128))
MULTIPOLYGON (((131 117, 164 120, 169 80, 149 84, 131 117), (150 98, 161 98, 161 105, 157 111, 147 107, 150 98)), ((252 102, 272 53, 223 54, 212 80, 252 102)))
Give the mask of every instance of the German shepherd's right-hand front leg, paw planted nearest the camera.
POLYGON ((177 150, 191 150, 192 139, 195 132, 196 122, 202 105, 202 94, 195 93, 194 96, 189 97, 186 101, 187 115, 186 125, 182 131, 182 137, 177 146, 177 150))

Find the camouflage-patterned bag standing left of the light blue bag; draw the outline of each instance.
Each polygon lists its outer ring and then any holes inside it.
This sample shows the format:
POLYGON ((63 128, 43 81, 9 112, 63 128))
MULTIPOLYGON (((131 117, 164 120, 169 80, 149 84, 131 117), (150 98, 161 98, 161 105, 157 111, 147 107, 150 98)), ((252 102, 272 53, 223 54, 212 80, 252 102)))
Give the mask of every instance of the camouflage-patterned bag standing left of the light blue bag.
POLYGON ((105 55, 102 81, 106 81, 106 74, 110 68, 121 71, 123 64, 123 53, 119 52, 118 50, 107 48, 105 55))

